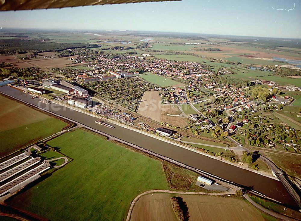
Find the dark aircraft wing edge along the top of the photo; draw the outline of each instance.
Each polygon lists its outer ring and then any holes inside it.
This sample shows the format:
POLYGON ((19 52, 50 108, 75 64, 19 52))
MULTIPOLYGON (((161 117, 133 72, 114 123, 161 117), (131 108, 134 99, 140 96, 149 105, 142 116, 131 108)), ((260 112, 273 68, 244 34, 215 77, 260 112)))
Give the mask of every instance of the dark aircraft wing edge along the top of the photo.
POLYGON ((0 11, 66 8, 85 5, 110 5, 138 2, 170 2, 180 0, 0 0, 0 11))

